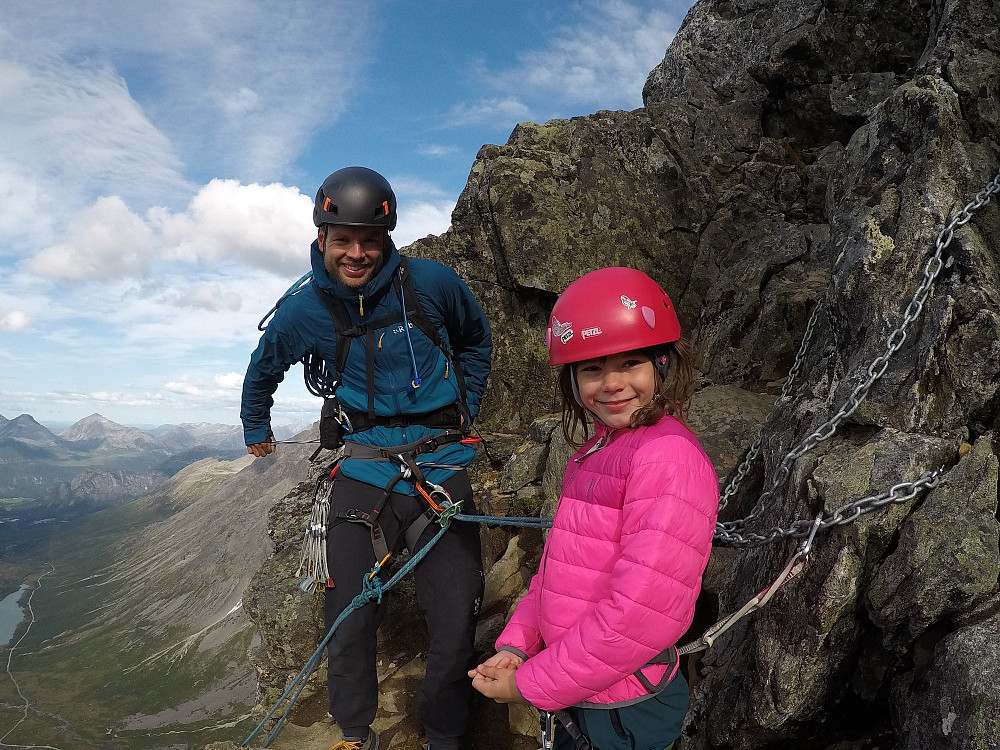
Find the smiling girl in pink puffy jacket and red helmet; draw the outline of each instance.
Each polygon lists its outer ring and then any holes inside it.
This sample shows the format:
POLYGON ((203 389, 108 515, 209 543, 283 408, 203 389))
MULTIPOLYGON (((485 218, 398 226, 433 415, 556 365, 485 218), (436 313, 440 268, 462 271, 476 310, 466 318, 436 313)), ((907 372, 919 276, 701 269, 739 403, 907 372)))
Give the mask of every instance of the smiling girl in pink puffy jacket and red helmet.
MULTIPOLYGON (((675 644, 694 616, 719 489, 684 424, 692 366, 680 337, 670 299, 641 271, 593 271, 556 301, 546 343, 562 365, 563 432, 573 442, 582 428, 584 442, 538 573, 497 654, 469 672, 497 702, 568 708, 598 750, 669 747, 688 707, 675 644)), ((557 734, 558 750, 573 746, 557 734)))

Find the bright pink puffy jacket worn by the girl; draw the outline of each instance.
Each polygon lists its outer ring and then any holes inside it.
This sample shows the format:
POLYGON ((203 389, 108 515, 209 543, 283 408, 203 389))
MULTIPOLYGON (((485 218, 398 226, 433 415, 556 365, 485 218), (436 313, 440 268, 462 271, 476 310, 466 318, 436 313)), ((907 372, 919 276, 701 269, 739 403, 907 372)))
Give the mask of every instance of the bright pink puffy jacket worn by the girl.
MULTIPOLYGON (((677 419, 596 425, 566 467, 538 572, 496 643, 528 657, 516 673, 528 702, 552 711, 647 694, 632 673, 691 624, 718 507, 712 463, 677 419)), ((642 673, 656 684, 666 669, 642 673)))

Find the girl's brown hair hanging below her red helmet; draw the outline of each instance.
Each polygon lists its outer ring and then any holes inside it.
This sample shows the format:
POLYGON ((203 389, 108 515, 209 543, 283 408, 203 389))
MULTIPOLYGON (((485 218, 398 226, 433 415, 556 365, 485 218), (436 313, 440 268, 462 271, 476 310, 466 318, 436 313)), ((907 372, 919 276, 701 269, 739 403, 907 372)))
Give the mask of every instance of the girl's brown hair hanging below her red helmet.
MULTIPOLYGON (((685 423, 684 415, 691 401, 694 384, 694 368, 691 364, 691 346, 685 339, 671 344, 664 344, 654 349, 637 349, 643 356, 654 359, 655 354, 667 355, 667 378, 660 377, 657 368, 653 368, 655 392, 653 400, 646 406, 635 410, 629 427, 648 427, 656 424, 664 414, 670 414, 685 423)), ((562 407, 562 429, 566 442, 572 446, 583 445, 590 437, 590 423, 593 415, 577 401, 573 393, 573 367, 578 362, 570 362, 559 369, 557 381, 557 397, 562 407), (583 437, 580 438, 580 433, 583 437)), ((685 423, 686 424, 686 423, 685 423)))

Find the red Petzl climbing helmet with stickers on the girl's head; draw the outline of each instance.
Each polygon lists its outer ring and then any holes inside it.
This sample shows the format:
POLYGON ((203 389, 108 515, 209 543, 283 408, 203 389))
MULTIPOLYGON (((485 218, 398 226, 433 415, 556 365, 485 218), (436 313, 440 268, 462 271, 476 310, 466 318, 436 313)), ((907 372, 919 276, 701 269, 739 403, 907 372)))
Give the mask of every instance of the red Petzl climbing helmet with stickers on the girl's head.
POLYGON ((549 364, 645 349, 677 341, 681 324, 670 297, 642 271, 601 268, 559 295, 545 345, 549 364))

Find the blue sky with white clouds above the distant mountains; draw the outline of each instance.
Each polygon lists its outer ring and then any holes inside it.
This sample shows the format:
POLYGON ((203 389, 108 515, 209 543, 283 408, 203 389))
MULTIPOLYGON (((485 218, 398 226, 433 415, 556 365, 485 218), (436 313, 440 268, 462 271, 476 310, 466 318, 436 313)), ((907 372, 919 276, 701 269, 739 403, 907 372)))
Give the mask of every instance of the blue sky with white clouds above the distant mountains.
MULTIPOLYGON (((323 179, 441 234, 484 144, 642 106, 683 0, 0 4, 0 415, 239 423, 323 179)), ((301 366, 276 425, 319 401, 301 366)))

